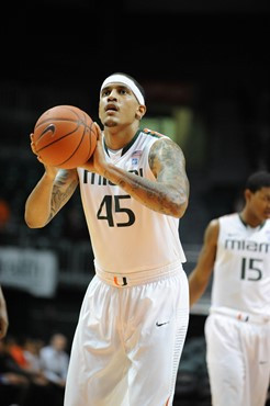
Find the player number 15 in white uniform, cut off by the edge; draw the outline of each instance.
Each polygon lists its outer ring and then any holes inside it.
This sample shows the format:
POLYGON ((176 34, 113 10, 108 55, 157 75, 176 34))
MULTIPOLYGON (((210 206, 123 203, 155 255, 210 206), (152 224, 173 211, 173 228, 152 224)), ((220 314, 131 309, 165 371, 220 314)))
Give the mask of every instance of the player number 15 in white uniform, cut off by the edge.
POLYGON ((214 406, 262 406, 270 379, 270 173, 252 173, 240 213, 210 222, 189 277, 190 305, 213 273, 205 323, 214 406))

